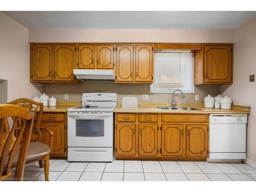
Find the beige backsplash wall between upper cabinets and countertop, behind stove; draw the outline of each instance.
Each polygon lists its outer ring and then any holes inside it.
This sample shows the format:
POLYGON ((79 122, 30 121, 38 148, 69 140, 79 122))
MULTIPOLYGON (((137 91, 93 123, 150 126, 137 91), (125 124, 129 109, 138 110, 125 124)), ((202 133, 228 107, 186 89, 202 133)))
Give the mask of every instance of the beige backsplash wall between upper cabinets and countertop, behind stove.
MULTIPOLYGON (((132 95, 138 98, 139 102, 170 102, 169 94, 156 94, 150 93, 149 84, 117 84, 114 82, 96 82, 96 81, 84 81, 83 84, 48 84, 43 86, 43 92, 49 96, 57 98, 57 102, 79 102, 82 93, 103 92, 103 93, 117 93, 118 102, 121 102, 122 98, 127 95, 132 95), (65 99, 64 95, 69 94, 69 99, 65 99), (143 100, 142 95, 148 94, 148 100, 143 100)), ((206 95, 216 96, 219 94, 218 85, 200 85, 195 86, 195 94, 185 94, 185 98, 182 99, 180 95, 176 95, 175 99, 178 103, 195 103, 203 102, 203 98, 206 95), (195 95, 199 95, 199 101, 195 101, 195 95)))

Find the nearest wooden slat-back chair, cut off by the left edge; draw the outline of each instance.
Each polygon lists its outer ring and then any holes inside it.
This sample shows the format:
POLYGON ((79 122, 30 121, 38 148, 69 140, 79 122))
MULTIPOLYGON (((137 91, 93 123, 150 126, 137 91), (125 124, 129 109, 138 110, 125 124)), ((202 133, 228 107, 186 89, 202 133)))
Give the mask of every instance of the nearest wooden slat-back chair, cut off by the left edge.
POLYGON ((0 181, 11 177, 9 169, 15 158, 15 181, 23 180, 26 155, 32 133, 34 114, 15 105, 0 105, 0 181), (9 129, 7 118, 13 119, 12 129, 9 129), (16 128, 19 134, 14 137, 16 128), (10 130, 8 134, 4 129, 10 130), (22 143, 22 144, 20 144, 22 143))

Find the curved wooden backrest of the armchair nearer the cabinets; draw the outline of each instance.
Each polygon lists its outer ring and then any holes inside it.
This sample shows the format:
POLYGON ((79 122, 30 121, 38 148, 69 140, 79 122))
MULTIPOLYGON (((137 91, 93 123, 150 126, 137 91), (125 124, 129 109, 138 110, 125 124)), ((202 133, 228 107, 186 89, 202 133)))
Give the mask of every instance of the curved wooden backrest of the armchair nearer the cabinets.
MULTIPOLYGON (((33 129, 34 129, 33 136, 36 136, 36 137, 34 138, 32 136, 31 139, 33 139, 33 141, 40 141, 40 138, 41 138, 40 126, 41 126, 42 112, 44 111, 44 104, 28 98, 16 99, 7 104, 15 104, 15 105, 22 106, 23 108, 29 110, 30 112, 33 112, 34 116, 37 116, 36 124, 33 125, 33 129), (35 105, 35 108, 32 107, 32 104, 35 105)), ((18 130, 16 131, 15 135, 17 134, 18 134, 18 130)))

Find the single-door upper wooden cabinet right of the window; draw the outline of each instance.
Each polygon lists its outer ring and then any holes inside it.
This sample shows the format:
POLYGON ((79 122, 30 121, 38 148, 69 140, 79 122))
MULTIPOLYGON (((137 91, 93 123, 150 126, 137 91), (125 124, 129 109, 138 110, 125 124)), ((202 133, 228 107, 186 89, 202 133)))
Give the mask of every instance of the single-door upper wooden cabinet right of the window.
POLYGON ((233 44, 203 44, 195 51, 194 84, 231 84, 233 44))

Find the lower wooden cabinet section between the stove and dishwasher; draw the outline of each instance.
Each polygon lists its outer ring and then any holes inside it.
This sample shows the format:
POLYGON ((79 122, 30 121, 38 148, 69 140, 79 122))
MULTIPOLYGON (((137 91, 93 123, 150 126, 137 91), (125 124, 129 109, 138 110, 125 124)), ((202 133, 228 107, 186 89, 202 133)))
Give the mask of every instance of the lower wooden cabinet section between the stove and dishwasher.
POLYGON ((115 119, 116 159, 206 160, 208 115, 117 113, 115 119))

